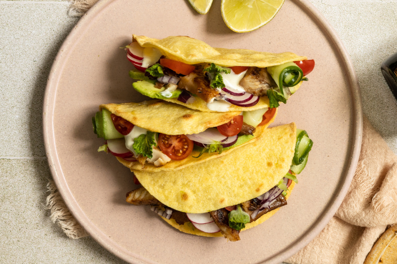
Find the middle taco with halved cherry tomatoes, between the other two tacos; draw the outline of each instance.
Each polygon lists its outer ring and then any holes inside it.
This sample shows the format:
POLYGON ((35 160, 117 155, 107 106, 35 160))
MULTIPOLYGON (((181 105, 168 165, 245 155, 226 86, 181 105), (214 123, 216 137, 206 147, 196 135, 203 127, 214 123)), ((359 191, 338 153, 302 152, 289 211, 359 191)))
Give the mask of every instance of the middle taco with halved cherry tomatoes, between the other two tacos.
POLYGON ((266 128, 276 112, 203 112, 151 100, 101 105, 92 123, 94 133, 106 140, 98 151, 113 154, 130 169, 174 171, 255 142, 257 128, 266 128))

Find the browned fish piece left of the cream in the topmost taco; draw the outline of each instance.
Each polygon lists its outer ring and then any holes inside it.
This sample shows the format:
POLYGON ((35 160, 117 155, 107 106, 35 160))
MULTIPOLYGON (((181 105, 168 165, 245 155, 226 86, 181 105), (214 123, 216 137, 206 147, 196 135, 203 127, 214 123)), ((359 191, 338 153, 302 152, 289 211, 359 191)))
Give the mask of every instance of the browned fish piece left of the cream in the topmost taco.
POLYGON ((219 96, 219 92, 209 86, 208 78, 200 69, 194 70, 189 75, 181 77, 178 82, 178 88, 197 95, 206 103, 211 102, 213 98, 219 96))

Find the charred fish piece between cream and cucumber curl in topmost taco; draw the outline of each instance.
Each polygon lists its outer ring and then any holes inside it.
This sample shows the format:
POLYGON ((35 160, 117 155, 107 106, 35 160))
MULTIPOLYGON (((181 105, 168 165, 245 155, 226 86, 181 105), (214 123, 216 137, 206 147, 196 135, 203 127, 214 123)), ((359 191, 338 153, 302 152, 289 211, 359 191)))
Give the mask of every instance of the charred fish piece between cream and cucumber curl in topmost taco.
POLYGON ((277 87, 271 75, 266 68, 250 67, 248 68, 239 85, 247 93, 254 96, 266 96, 267 90, 277 87))

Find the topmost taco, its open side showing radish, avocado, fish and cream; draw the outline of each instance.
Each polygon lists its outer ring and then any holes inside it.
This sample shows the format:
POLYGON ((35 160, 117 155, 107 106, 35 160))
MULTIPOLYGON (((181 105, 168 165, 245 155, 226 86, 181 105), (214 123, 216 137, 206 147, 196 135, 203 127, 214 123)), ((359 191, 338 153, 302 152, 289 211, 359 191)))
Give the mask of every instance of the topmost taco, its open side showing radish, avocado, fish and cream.
POLYGON ((186 36, 132 35, 126 50, 136 91, 206 112, 278 107, 314 68, 294 53, 212 48, 186 36))

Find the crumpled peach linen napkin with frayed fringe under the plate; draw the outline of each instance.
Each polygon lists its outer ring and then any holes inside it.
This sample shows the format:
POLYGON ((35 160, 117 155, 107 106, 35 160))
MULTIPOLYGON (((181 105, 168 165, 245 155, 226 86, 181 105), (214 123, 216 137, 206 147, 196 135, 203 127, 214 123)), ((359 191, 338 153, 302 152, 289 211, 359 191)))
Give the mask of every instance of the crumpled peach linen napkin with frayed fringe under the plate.
MULTIPOLYGON (((51 219, 70 238, 88 234, 48 183, 51 219)), ((289 258, 291 264, 362 264, 387 225, 397 223, 397 156, 364 117, 357 169, 340 208, 323 231, 289 258)))

